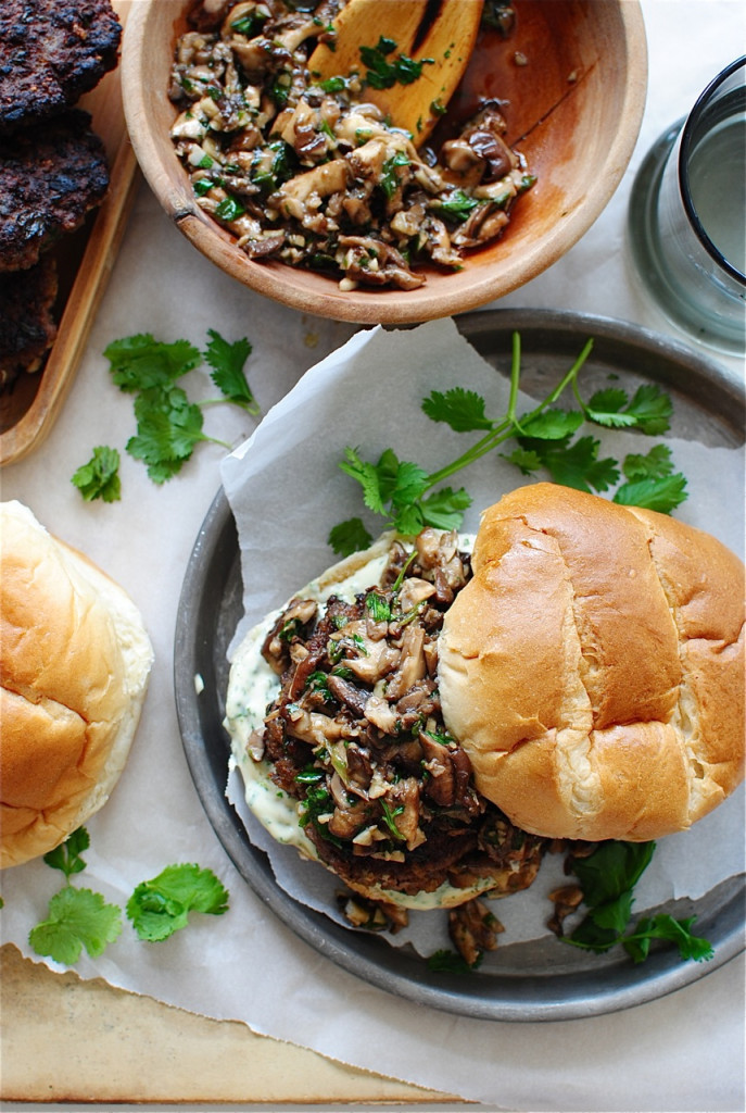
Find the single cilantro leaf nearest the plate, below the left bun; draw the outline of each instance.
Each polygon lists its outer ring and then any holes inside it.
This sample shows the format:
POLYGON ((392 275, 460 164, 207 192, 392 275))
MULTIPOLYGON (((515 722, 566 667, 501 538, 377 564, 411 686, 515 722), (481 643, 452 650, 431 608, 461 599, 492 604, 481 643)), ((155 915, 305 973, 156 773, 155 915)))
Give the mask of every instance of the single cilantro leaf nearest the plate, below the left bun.
POLYGON ((186 927, 190 912, 221 916, 227 908, 228 890, 211 869, 176 865, 138 885, 126 912, 138 936, 157 943, 186 927))

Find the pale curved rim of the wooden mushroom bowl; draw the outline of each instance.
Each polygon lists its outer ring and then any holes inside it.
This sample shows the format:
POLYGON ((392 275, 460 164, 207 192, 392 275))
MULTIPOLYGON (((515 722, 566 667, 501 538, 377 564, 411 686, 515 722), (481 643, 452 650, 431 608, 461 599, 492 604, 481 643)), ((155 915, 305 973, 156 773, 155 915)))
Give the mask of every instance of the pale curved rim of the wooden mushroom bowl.
MULTIPOLYGON (((556 263, 595 224, 621 181, 635 149, 643 122, 647 97, 648 52, 640 0, 618 0, 617 11, 626 49, 628 75, 623 89, 619 119, 626 126, 611 136, 604 158, 604 169, 596 175, 583 207, 575 206, 567 218, 558 220, 549 235, 529 245, 521 255, 506 263, 496 278, 491 268, 475 270, 468 287, 458 292, 447 284, 416 290, 365 290, 350 297, 329 279, 328 289, 307 290, 304 285, 288 282, 292 268, 277 262, 256 263, 236 249, 228 233, 208 221, 197 208, 191 190, 175 186, 169 167, 172 167, 168 148, 159 145, 148 127, 149 99, 152 96, 145 80, 142 48, 148 32, 149 17, 156 4, 163 0, 138 0, 128 20, 123 37, 121 80, 125 117, 132 148, 140 169, 152 193, 179 230, 210 262, 232 278, 257 293, 315 316, 347 321, 362 325, 416 324, 437 317, 464 313, 496 301, 536 278, 556 263), (579 218, 581 214, 583 218, 579 218)), ((590 0, 595 2, 595 0, 590 0)), ((185 0, 186 3, 186 0, 185 0)), ((183 8, 183 3, 179 11, 183 8)), ((173 155, 176 159, 176 155, 173 155)))

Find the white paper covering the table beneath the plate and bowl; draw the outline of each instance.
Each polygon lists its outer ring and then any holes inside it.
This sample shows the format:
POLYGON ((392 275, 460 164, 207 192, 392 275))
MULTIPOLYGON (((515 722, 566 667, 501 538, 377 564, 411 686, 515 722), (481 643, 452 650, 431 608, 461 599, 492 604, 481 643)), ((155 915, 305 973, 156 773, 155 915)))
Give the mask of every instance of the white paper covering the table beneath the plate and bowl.
MULTIPOLYGON (((596 0, 600 2, 600 0, 596 0)), ((740 0, 644 0, 648 102, 629 170, 608 208, 549 272, 500 306, 570 308, 625 318, 685 339, 641 298, 624 252, 631 177, 649 145, 743 48, 740 0)), ((108 381, 103 347, 152 332, 203 344, 218 328, 253 344, 249 378, 266 412, 304 371, 342 344, 349 325, 305 318, 229 282, 195 253, 142 188, 77 381, 49 440, 2 473, 2 498, 20 499, 53 532, 83 549, 127 588, 156 648, 150 691, 131 760, 89 826, 89 884, 121 900, 168 861, 211 866, 231 893, 220 920, 202 918, 166 944, 122 938, 86 977, 151 994, 258 1032, 427 1086, 509 1110, 729 1111, 744 1107, 744 964, 736 959, 676 994, 595 1020, 509 1025, 428 1014, 338 971, 279 924, 247 889, 202 812, 176 721, 172 640, 181 579, 220 482, 225 450, 201 445, 156 489, 122 455, 122 501, 86 504, 69 477, 95 444, 123 449, 131 401, 108 381), (155 867, 155 868, 153 868, 155 867)), ((728 361, 734 374, 743 372, 728 361)), ((206 377, 195 393, 207 396, 206 377)), ((206 430, 233 444, 252 422, 225 407, 206 430)), ((2 938, 24 953, 59 875, 41 863, 2 878, 2 938)), ((81 878, 81 880, 82 880, 81 878)))

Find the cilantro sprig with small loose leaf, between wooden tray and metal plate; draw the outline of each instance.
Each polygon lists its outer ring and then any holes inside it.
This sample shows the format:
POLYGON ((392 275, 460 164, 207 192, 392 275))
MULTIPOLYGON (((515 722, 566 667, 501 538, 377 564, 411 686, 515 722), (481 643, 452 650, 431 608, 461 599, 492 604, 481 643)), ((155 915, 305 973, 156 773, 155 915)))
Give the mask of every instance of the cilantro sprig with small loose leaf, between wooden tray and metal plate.
MULTIPOLYGON (((252 416, 259 414, 245 374, 251 344, 246 337, 229 343, 218 332, 208 329, 203 352, 189 341, 172 343, 140 333, 113 341, 105 349, 112 382, 133 395, 137 432, 127 442, 127 452, 142 461, 150 479, 158 484, 172 479, 203 441, 229 444, 203 432, 203 411, 216 403, 240 406, 252 416), (220 391, 217 398, 191 402, 180 385, 189 372, 202 364, 220 391)), ((72 483, 83 499, 117 502, 121 499, 120 456, 116 449, 99 445, 91 459, 73 474, 72 483)))

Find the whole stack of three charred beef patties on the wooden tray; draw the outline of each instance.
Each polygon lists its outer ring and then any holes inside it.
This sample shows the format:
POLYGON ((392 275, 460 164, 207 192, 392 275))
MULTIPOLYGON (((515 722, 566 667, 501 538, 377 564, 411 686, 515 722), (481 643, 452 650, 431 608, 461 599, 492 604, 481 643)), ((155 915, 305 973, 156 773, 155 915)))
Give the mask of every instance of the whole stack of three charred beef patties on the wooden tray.
POLYGON ((106 151, 74 107, 117 66, 110 0, 0 3, 0 391, 43 364, 57 333, 53 252, 101 204, 106 151))

